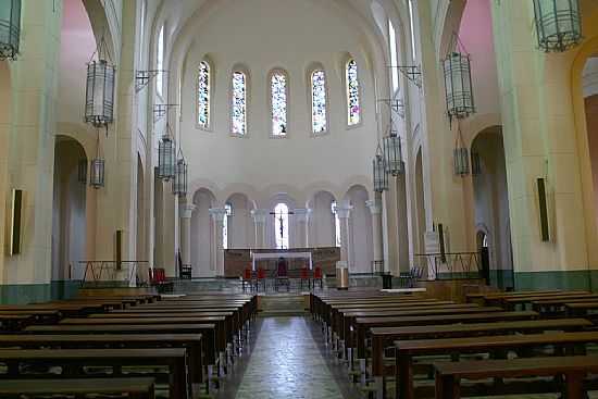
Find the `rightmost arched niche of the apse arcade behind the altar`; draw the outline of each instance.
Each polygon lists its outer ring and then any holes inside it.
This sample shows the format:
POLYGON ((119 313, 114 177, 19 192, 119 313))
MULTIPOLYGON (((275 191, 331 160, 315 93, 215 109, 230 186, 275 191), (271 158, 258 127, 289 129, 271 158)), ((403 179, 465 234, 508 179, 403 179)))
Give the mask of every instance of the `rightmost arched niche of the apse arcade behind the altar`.
MULTIPOLYGON (((352 209, 349 213, 349 271, 351 273, 371 273, 374 260, 372 237, 372 213, 366 205, 367 190, 363 186, 353 186, 345 196, 352 209)), ((342 223, 342 222, 340 222, 342 223)), ((341 245, 345 245, 341 242, 341 245)))

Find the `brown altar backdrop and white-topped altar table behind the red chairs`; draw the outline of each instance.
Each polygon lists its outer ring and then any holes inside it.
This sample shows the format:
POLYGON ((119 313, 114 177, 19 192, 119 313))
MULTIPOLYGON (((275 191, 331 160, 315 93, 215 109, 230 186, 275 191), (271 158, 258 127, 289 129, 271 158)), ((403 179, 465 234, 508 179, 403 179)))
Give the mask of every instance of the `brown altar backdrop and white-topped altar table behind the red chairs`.
POLYGON ((290 275, 298 275, 303 267, 311 270, 320 267, 323 274, 334 275, 336 273, 336 262, 340 260, 340 248, 226 249, 224 251, 224 276, 239 278, 244 275, 246 269, 253 271, 264 269, 272 272, 276 269, 278 258, 287 260, 290 275))

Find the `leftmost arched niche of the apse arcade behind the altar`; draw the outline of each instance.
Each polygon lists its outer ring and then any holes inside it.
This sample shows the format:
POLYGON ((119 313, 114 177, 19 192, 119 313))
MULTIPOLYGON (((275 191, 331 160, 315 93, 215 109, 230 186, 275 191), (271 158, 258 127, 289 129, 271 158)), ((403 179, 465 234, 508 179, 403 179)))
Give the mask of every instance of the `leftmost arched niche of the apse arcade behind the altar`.
POLYGON ((194 277, 213 277, 216 274, 215 224, 210 209, 216 203, 212 191, 201 188, 194 195, 196 209, 191 215, 191 264, 194 277))

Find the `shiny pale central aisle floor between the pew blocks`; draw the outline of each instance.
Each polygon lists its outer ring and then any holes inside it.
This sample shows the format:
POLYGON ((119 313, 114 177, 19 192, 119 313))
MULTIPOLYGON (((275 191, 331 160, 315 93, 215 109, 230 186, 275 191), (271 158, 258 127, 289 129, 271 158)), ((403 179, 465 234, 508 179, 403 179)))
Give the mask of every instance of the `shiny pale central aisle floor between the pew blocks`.
POLYGON ((237 399, 341 399, 304 317, 262 322, 237 399))

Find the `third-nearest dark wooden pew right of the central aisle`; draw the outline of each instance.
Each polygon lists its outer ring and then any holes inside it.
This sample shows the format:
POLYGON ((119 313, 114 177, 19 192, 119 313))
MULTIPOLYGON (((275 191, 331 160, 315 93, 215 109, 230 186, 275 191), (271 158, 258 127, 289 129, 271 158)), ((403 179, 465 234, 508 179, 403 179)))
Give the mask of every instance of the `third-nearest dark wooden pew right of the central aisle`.
POLYGON ((372 375, 379 386, 384 386, 385 350, 396 340, 461 338, 486 335, 534 334, 547 331, 576 332, 591 326, 585 319, 527 320, 515 322, 426 325, 411 327, 374 327, 372 336, 372 375))

